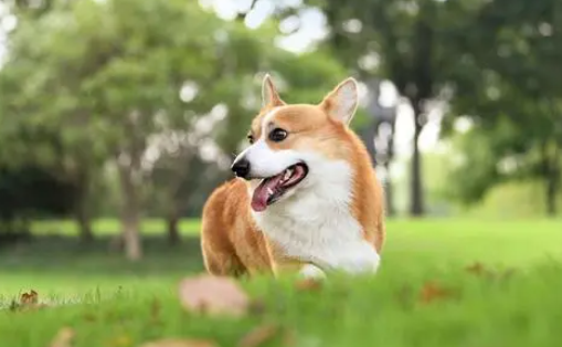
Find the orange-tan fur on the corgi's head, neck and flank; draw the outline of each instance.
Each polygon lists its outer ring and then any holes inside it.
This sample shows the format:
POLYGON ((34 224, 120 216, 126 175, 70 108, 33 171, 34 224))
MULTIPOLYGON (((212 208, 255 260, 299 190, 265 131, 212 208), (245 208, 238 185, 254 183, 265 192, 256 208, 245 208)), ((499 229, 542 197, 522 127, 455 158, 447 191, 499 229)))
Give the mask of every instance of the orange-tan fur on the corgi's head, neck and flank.
MULTIPOLYGON (((284 105, 276 92, 271 92, 274 103, 264 106, 252 122, 254 138, 262 136, 264 115, 284 105)), ((335 102, 328 96, 320 105, 283 107, 268 127, 280 127, 288 136, 282 143, 267 141, 267 145, 274 150, 311 149, 327 158, 347 160, 353 170, 350 212, 361 224, 364 239, 380 253, 384 242, 383 190, 363 143, 347 125, 329 116, 335 102)), ((285 257, 283 250, 258 230, 251 214, 247 182, 242 179, 219 187, 206 201, 201 245, 205 267, 215 275, 277 274, 303 265, 298 260, 285 257)))

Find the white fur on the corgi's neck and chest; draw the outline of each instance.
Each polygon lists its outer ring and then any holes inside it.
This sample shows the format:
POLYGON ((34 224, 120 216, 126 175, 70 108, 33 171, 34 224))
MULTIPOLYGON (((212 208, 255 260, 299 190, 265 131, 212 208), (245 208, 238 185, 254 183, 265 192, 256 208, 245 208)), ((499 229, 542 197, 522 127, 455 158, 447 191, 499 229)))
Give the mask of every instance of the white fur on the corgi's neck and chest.
POLYGON ((257 224, 289 257, 322 270, 375 272, 379 254, 350 210, 351 167, 316 156, 307 162, 310 171, 295 193, 253 212, 257 224))

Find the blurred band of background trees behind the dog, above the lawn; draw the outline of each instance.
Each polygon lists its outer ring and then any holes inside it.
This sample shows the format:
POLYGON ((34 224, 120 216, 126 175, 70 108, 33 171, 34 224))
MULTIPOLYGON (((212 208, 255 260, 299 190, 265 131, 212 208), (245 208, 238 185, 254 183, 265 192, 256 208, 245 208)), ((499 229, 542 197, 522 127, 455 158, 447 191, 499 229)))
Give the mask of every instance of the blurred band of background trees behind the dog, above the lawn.
POLYGON ((293 103, 361 82, 353 128, 392 214, 560 209, 554 0, 2 1, 0 24, 2 233, 73 218, 88 242, 115 217, 136 260, 156 217, 177 244, 231 177, 265 72, 293 103))

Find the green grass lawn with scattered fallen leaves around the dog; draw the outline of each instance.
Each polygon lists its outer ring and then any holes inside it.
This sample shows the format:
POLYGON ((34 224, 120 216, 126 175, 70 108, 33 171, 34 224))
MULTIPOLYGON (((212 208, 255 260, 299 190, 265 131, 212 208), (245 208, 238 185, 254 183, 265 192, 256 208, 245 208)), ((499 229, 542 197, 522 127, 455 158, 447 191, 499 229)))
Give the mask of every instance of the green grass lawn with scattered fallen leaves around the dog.
MULTIPOLYGON (((96 225, 105 236, 116 227, 96 225)), ((263 307, 238 319, 180 307, 178 281, 202 270, 198 223, 182 223, 185 240, 176 248, 157 235, 162 228, 147 221, 138 264, 109 251, 106 239, 79 245, 68 223, 38 223, 34 242, 0 245, 0 346, 47 346, 63 326, 75 329, 75 346, 161 337, 236 346, 264 323, 279 329, 263 346, 554 346, 562 337, 560 220, 391 221, 375 277, 336 276, 309 292, 288 278, 242 281, 263 307), (474 262, 496 275, 467 272, 474 262), (8 308, 32 288, 51 307, 8 308)))

